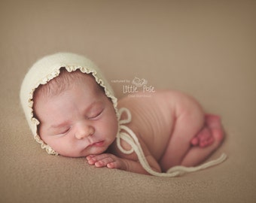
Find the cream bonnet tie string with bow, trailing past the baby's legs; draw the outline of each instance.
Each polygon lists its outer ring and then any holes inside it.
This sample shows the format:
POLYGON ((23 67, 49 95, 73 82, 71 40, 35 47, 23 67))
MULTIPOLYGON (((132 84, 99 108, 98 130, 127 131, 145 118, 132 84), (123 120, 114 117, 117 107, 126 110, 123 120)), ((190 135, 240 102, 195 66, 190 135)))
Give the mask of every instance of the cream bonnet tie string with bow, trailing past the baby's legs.
POLYGON ((213 165, 218 165, 221 162, 224 162, 225 159, 227 159, 227 155, 225 153, 222 153, 221 156, 218 159, 206 162, 202 165, 198 165, 195 167, 185 167, 181 165, 174 166, 172 168, 169 168, 166 173, 159 173, 157 171, 154 171, 151 166, 148 164, 147 159, 145 158, 145 155, 143 153, 142 147, 139 144, 139 140, 136 136, 136 134, 133 132, 132 129, 129 127, 125 126, 124 124, 130 123, 132 120, 132 114, 127 108, 120 108, 119 109, 119 133, 117 135, 117 147, 122 153, 125 154, 131 154, 133 152, 136 153, 138 156, 139 162, 141 163, 142 167, 147 171, 149 174, 152 174, 154 176, 159 176, 159 177, 176 177, 181 174, 186 174, 194 171, 199 171, 204 168, 209 168, 213 165), (121 115, 125 113, 126 114, 126 119, 120 120, 121 115), (132 147, 131 150, 125 150, 120 144, 120 139, 123 141, 126 141, 130 146, 132 147))

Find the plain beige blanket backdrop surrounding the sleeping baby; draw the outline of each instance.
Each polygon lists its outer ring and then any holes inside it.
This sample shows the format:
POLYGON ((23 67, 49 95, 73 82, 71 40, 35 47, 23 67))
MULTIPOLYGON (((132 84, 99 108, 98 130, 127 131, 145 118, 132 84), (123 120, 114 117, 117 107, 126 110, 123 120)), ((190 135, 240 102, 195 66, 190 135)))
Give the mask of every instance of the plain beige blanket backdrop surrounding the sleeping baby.
POLYGON ((0 202, 255 202, 255 1, 0 0, 0 202), (226 162, 164 178, 49 156, 32 138, 20 83, 41 56, 88 56, 118 80, 194 95, 223 118, 226 162))

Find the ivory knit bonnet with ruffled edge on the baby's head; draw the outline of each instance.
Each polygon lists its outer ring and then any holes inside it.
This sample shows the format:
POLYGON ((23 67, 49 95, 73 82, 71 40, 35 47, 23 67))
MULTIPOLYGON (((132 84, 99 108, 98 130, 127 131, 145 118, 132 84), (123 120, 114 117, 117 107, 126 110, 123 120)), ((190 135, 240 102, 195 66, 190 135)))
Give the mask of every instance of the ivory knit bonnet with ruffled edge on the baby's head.
POLYGON ((92 74, 96 83, 102 86, 105 90, 105 95, 107 95, 108 98, 111 98, 117 118, 119 117, 117 111, 117 98, 114 96, 113 89, 108 81, 105 80, 105 77, 99 68, 97 68, 90 59, 75 53, 56 53, 50 56, 44 56, 44 58, 32 65, 32 68, 29 69, 24 77, 20 89, 20 101, 35 140, 41 144, 43 149, 47 150, 47 153, 55 155, 57 155, 57 153, 49 145, 45 144, 38 135, 37 126, 39 121, 33 114, 33 93, 39 85, 44 85, 54 77, 57 77, 60 73, 60 68, 66 68, 69 72, 79 69, 84 74, 92 74))

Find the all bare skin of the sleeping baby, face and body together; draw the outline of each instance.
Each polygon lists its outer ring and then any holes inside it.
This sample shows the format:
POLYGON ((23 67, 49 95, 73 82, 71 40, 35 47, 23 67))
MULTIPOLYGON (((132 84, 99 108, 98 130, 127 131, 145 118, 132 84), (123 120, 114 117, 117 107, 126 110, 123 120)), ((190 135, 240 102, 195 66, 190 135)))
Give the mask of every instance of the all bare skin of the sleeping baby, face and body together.
MULTIPOLYGON (((83 78, 62 92, 35 92, 33 108, 41 139, 62 156, 87 157, 96 167, 148 174, 136 153, 127 155, 117 148, 112 102, 93 77, 83 74, 83 78)), ((224 138, 220 118, 205 114, 194 98, 171 90, 138 94, 121 98, 118 108, 130 110, 132 120, 126 126, 137 135, 154 171, 198 165, 220 146, 224 138)), ((121 119, 125 118, 123 114, 121 119)), ((121 145, 131 149, 126 141, 121 145)))

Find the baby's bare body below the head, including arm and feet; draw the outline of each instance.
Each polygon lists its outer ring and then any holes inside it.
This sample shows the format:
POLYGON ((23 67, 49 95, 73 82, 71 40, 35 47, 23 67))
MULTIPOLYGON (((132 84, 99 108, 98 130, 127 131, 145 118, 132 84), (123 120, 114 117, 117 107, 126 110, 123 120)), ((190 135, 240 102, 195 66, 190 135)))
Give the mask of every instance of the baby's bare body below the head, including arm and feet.
MULTIPOLYGON (((136 133, 146 159, 155 171, 166 171, 175 165, 198 165, 219 147, 224 138, 220 118, 205 114, 194 98, 181 92, 162 90, 150 95, 130 95, 120 99, 118 107, 130 110, 133 119, 127 126, 136 133)), ((124 141, 122 144, 130 149, 124 141)), ((87 160, 97 167, 145 173, 135 153, 123 154, 115 144, 111 145, 110 151, 122 159, 103 153, 87 156, 87 160)))

